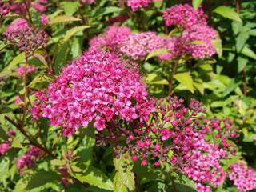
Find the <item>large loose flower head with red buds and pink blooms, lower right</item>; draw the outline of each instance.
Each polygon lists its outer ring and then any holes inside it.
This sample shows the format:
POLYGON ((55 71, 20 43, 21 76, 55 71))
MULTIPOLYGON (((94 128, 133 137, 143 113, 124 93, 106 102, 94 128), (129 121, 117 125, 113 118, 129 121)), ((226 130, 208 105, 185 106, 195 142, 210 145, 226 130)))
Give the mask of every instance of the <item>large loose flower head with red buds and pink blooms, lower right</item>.
POLYGON ((221 185, 226 178, 221 159, 229 150, 206 139, 207 134, 212 135, 215 120, 206 118, 202 103, 192 99, 185 106, 181 98, 168 97, 154 106, 150 122, 127 131, 126 145, 116 146, 114 153, 118 156, 128 151, 142 166, 150 162, 157 168, 169 162, 197 183, 198 191, 221 185))

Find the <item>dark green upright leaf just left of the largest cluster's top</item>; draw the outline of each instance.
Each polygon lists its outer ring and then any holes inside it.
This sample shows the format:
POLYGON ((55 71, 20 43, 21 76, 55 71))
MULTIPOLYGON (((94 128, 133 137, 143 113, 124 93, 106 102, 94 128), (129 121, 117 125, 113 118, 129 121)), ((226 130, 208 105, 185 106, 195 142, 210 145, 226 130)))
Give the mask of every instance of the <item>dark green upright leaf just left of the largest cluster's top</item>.
POLYGON ((56 74, 58 74, 59 71, 61 70, 61 67, 66 64, 67 54, 69 50, 70 50, 69 43, 63 42, 55 58, 54 70, 56 74))

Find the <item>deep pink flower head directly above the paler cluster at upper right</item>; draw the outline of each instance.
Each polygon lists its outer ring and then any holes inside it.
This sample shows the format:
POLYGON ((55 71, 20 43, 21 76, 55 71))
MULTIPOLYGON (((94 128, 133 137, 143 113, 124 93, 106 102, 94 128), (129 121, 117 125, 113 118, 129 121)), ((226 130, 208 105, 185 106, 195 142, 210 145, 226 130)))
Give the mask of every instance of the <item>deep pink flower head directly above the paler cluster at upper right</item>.
POLYGON ((163 13, 163 19, 166 26, 180 25, 186 29, 195 24, 205 24, 206 14, 203 13, 202 9, 194 10, 188 4, 181 4, 166 9, 163 13))

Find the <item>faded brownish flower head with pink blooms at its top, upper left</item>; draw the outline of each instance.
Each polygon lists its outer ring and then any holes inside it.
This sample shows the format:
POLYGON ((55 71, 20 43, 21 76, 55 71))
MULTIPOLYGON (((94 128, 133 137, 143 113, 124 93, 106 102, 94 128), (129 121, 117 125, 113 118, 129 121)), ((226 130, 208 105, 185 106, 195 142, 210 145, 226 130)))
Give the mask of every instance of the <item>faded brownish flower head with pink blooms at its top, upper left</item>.
POLYGON ((38 28, 31 28, 25 19, 18 18, 3 33, 6 41, 18 46, 19 50, 30 55, 39 46, 45 46, 48 35, 38 28))

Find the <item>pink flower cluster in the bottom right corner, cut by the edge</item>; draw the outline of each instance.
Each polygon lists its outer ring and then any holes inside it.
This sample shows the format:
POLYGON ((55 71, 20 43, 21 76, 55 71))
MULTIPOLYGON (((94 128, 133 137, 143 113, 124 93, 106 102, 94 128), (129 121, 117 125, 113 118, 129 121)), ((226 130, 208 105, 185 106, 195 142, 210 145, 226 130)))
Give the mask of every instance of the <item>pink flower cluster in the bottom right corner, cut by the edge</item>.
POLYGON ((256 189, 256 171, 246 167, 242 162, 230 166, 230 180, 234 181, 239 192, 246 192, 256 189))

